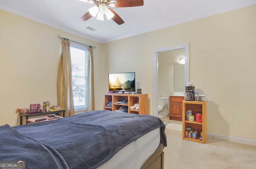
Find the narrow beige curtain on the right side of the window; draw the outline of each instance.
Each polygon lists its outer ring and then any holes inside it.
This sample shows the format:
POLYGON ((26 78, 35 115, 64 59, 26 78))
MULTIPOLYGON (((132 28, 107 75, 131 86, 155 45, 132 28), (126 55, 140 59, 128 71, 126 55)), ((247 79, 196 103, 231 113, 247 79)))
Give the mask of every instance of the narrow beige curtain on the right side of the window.
POLYGON ((88 50, 88 67, 87 67, 87 111, 95 110, 94 104, 94 67, 93 67, 93 51, 89 47, 88 50))

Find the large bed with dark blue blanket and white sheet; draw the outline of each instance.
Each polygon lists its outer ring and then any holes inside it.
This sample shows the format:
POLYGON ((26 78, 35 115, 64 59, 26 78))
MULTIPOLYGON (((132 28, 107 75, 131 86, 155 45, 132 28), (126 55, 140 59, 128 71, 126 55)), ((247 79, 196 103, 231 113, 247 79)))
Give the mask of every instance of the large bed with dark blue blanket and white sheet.
POLYGON ((109 110, 55 121, 0 126, 0 160, 26 169, 163 169, 165 125, 157 117, 109 110))

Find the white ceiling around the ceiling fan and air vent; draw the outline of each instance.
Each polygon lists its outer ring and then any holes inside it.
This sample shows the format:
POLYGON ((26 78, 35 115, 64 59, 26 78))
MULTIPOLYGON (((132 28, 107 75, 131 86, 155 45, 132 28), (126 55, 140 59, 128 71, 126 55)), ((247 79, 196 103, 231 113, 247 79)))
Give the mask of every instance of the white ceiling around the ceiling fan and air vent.
POLYGON ((94 17, 80 21, 94 4, 79 0, 0 0, 0 9, 105 43, 255 4, 256 0, 144 0, 144 6, 112 8, 124 20, 122 25, 94 17))

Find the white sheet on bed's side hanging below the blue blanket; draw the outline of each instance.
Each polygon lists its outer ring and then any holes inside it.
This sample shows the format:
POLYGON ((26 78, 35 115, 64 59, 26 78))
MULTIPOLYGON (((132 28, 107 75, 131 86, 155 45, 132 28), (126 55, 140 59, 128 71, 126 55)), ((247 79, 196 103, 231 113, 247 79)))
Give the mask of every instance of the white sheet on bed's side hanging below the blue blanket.
POLYGON ((98 169, 139 169, 159 143, 160 128, 157 128, 128 144, 98 169))

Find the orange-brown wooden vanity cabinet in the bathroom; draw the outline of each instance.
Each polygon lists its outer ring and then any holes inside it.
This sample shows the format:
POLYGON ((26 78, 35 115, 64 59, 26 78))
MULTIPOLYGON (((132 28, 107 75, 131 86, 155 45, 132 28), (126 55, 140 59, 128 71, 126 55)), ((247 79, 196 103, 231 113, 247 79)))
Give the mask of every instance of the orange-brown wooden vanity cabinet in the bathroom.
POLYGON ((184 96, 170 96, 170 120, 182 121, 182 101, 184 96))

